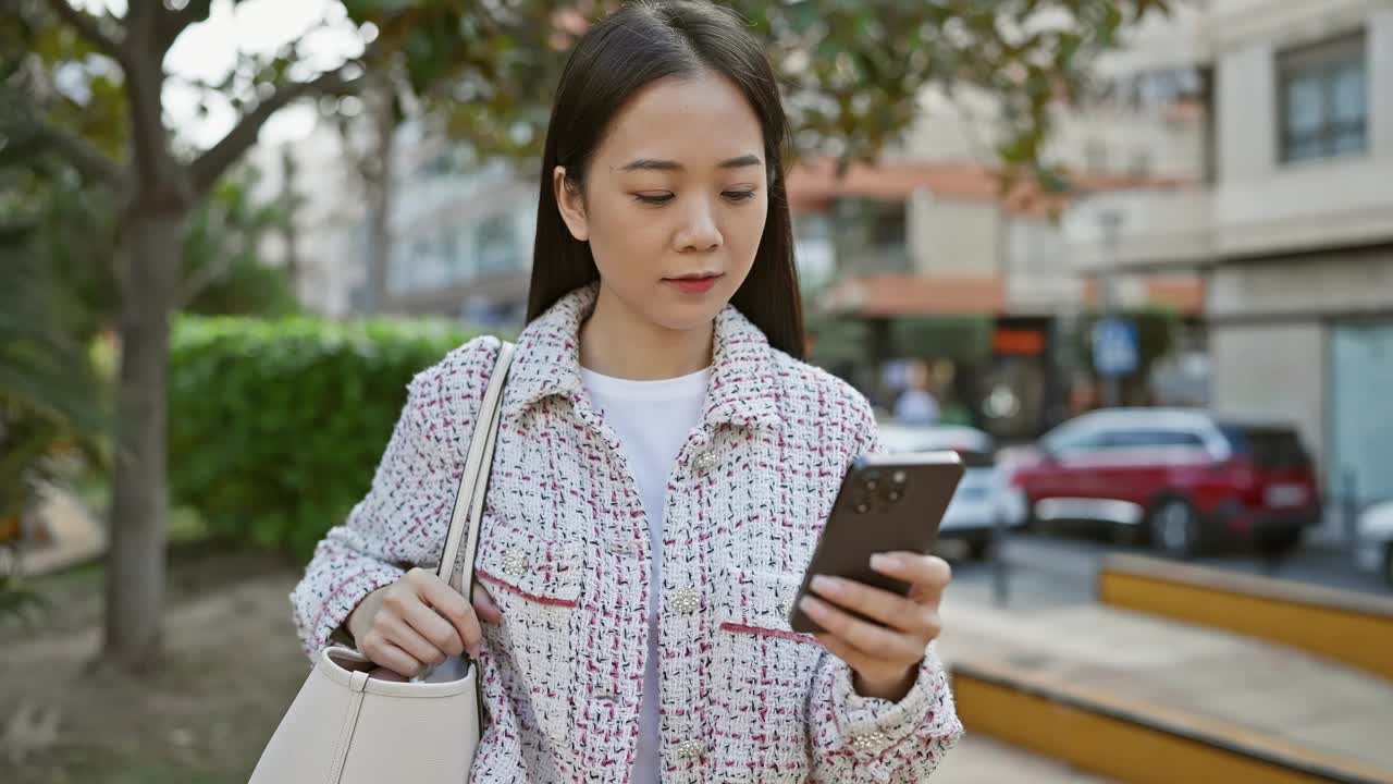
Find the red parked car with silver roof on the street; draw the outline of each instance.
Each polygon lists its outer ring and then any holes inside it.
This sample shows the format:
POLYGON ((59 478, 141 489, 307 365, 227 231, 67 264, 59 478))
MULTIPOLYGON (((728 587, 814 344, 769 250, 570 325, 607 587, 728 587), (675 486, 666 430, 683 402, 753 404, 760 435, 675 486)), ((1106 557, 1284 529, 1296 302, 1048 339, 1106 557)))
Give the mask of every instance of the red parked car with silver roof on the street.
POLYGON ((1002 455, 1015 515, 1110 523, 1126 541, 1191 557, 1223 541, 1266 554, 1321 520, 1315 467, 1294 428, 1201 410, 1109 409, 1002 455))

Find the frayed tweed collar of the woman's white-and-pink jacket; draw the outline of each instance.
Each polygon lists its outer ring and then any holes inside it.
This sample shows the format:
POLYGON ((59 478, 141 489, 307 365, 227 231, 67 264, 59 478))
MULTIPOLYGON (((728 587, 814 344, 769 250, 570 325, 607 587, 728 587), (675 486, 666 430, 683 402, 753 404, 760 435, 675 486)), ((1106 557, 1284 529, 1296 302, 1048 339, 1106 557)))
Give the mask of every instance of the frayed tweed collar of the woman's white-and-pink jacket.
MULTIPOLYGON (((518 336, 503 395, 507 416, 517 417, 550 396, 568 398, 573 403, 584 396, 579 332, 595 308, 598 293, 599 285, 592 283, 566 294, 518 336)), ((779 377, 772 352, 765 333, 734 306, 727 304, 716 315, 715 360, 702 412, 705 424, 783 423, 775 398, 779 377)))

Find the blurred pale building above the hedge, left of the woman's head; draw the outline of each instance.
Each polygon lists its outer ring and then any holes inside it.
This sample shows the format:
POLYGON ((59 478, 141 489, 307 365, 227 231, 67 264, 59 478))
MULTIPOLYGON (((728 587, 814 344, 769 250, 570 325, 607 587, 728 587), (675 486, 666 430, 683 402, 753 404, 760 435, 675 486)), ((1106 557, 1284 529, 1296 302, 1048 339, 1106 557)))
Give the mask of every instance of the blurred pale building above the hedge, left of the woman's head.
MULTIPOLYGON (((348 134, 345 141, 337 126, 320 123, 304 140, 252 153, 263 172, 262 198, 277 198, 288 183, 299 199, 294 257, 305 307, 332 317, 435 314, 520 328, 536 222, 536 187, 521 173, 525 166, 479 162, 408 121, 394 131, 384 169, 390 190, 378 201, 361 167, 376 153, 371 128, 355 123, 348 134), (375 204, 386 211, 382 258, 375 204)), ((267 258, 288 254, 281 239, 267 243, 267 258)))

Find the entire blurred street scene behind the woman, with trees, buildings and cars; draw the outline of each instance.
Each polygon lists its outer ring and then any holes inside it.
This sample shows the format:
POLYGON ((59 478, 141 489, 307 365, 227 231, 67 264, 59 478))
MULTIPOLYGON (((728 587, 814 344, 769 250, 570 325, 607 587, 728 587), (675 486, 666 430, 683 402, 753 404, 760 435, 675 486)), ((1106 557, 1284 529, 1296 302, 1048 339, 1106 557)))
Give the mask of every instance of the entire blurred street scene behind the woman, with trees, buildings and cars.
MULTIPOLYGON (((245 781, 614 4, 0 0, 0 780, 245 781)), ((723 4, 808 360, 968 466, 935 781, 1393 781, 1393 3, 723 4)))

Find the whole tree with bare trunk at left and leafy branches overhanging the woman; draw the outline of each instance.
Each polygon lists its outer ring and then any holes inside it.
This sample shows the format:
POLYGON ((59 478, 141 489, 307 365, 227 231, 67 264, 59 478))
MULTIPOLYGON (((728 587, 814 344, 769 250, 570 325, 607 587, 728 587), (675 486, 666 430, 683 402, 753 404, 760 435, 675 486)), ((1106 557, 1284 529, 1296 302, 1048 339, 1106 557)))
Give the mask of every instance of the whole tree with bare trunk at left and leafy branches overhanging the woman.
MULTIPOLYGON (((910 124, 932 81, 999 98, 1010 131, 999 152, 1014 166, 1036 160, 1048 106, 1084 82, 1117 27, 1162 3, 731 0, 768 42, 802 151, 873 153, 910 124)), ((117 15, 104 4, 0 0, 0 156, 61 158, 110 199, 113 250, 93 265, 116 269, 123 361, 104 650, 142 668, 160 646, 169 324, 187 283, 180 246, 191 216, 267 119, 302 99, 350 112, 344 96, 368 82, 389 85, 398 114, 419 106, 481 153, 535 153, 568 46, 614 3, 344 0, 362 38, 347 61, 322 63, 306 35, 270 54, 240 53, 212 84, 166 70, 212 0, 124 6, 117 15), (198 148, 169 126, 171 80, 234 110, 221 140, 198 148)))

